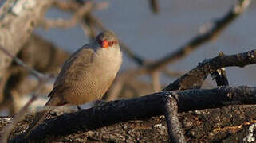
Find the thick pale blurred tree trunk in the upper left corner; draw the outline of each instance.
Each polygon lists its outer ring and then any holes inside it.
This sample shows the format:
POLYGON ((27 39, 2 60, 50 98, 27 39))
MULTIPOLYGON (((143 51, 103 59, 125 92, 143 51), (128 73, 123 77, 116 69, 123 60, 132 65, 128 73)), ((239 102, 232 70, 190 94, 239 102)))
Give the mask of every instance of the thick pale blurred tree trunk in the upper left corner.
MULTIPOLYGON (((0 45, 16 55, 38 25, 51 0, 8 1, 0 9, 0 45)), ((0 52, 0 80, 6 73, 11 59, 0 52)))

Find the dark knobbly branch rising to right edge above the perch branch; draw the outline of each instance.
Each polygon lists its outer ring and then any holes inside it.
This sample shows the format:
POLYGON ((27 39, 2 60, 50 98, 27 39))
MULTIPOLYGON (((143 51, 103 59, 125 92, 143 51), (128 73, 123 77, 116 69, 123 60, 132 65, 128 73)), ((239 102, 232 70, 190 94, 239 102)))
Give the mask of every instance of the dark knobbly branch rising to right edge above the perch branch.
POLYGON ((169 84, 163 89, 163 91, 183 90, 200 86, 203 83, 204 77, 211 72, 215 72, 219 68, 232 66, 245 67, 248 64, 255 63, 256 50, 227 56, 220 52, 219 56, 204 60, 203 63, 199 63, 196 68, 192 69, 190 72, 187 72, 187 74, 175 80, 175 82, 169 84))

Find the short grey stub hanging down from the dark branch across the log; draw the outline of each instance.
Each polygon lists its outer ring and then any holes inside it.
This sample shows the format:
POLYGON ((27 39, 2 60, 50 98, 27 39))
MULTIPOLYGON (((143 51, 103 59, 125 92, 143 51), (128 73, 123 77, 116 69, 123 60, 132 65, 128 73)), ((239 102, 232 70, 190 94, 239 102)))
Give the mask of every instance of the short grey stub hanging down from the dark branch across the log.
POLYGON ((164 102, 163 110, 165 120, 167 122, 169 139, 171 142, 186 142, 183 129, 178 118, 178 104, 176 99, 169 95, 169 97, 165 99, 164 102))

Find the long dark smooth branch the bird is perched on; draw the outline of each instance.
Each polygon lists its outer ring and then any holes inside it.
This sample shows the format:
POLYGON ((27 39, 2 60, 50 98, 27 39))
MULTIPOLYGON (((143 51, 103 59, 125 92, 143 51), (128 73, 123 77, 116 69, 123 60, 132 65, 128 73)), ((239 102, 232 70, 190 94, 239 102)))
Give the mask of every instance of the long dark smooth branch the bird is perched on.
MULTIPOLYGON (((176 95, 179 112, 218 108, 234 104, 256 104, 256 87, 219 87, 211 90, 160 92, 135 99, 120 99, 89 110, 80 110, 47 120, 38 126, 29 139, 65 136, 89 131, 132 119, 150 118, 163 113, 163 102, 176 95)), ((14 140, 21 140, 16 137, 14 140)))

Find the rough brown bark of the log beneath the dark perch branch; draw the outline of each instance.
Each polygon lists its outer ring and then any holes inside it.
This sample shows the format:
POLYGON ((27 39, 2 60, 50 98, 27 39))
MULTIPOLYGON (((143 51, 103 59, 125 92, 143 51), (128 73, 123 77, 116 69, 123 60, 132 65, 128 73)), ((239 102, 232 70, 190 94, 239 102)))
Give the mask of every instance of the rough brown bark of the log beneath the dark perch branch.
MULTIPOLYGON (((181 113, 179 121, 182 122, 187 142, 242 142, 249 134, 249 127, 256 123, 255 112, 256 106, 226 106, 181 113)), ((31 120, 32 116, 27 116, 26 120, 18 124, 12 136, 22 133, 31 120)), ((9 118, 0 118, 0 128, 8 122, 9 118)), ((167 135, 165 118, 157 116, 68 136, 45 137, 41 142, 167 142, 167 135)), ((255 131, 253 136, 256 137, 255 131)))

